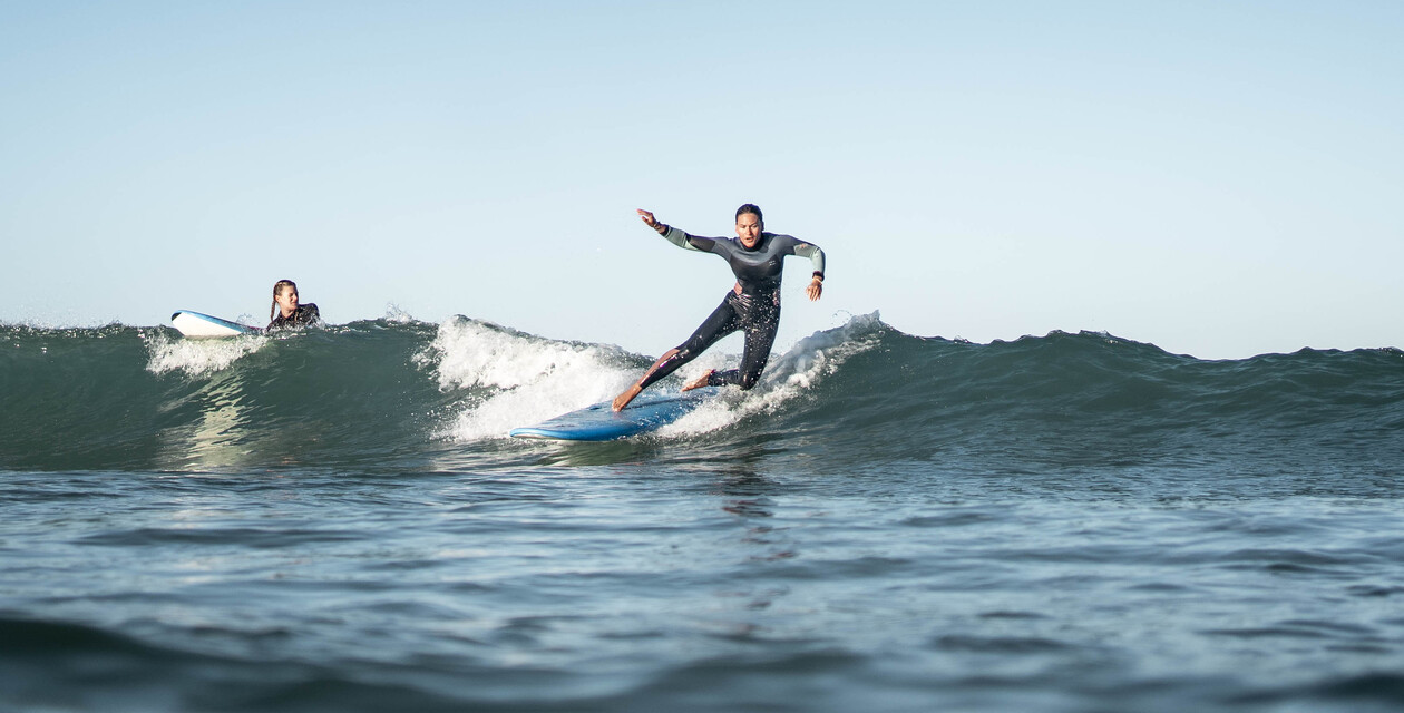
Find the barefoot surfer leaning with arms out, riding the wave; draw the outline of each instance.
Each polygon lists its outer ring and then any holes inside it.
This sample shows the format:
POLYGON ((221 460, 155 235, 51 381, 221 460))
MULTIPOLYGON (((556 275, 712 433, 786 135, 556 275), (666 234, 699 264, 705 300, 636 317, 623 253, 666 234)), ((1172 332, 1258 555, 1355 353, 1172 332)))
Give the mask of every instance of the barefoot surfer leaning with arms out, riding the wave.
POLYGON ((741 368, 717 372, 708 369, 702 376, 688 382, 682 390, 702 386, 737 385, 741 389, 755 386, 761 369, 771 358, 775 330, 781 324, 781 272, 785 269, 785 255, 807 257, 814 264, 814 276, 804 288, 810 300, 824 292, 824 251, 819 246, 804 243, 792 236, 765 232, 761 209, 746 204, 736 209, 736 239, 701 237, 684 233, 677 227, 660 223, 649 211, 639 211, 639 218, 660 236, 681 248, 713 253, 731 265, 736 286, 726 293, 722 305, 712 312, 701 327, 675 349, 658 356, 658 361, 643 372, 639 380, 615 397, 614 410, 629 406, 640 392, 653 382, 673 373, 684 364, 696 358, 717 340, 737 330, 746 331, 746 351, 741 352, 741 368))

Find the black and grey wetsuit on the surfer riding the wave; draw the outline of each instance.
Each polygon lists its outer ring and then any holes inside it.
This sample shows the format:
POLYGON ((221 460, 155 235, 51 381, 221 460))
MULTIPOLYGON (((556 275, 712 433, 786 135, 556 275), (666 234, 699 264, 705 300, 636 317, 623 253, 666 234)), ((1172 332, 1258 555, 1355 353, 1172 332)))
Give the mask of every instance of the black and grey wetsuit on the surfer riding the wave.
POLYGON ((741 368, 712 372, 706 383, 708 386, 734 383, 741 389, 755 386, 761 371, 765 369, 765 362, 771 358, 775 330, 781 324, 781 278, 785 269, 785 255, 810 258, 814 264, 814 275, 823 278, 824 251, 816 244, 776 233, 761 233, 761 240, 754 248, 747 248, 734 237, 691 236, 677 227, 668 227, 663 237, 682 248, 720 255, 731 265, 740 292, 729 291, 726 299, 712 310, 702 326, 680 344, 674 354, 646 373, 639 386, 647 389, 649 385, 673 373, 678 366, 716 344, 717 340, 737 330, 746 331, 741 368))

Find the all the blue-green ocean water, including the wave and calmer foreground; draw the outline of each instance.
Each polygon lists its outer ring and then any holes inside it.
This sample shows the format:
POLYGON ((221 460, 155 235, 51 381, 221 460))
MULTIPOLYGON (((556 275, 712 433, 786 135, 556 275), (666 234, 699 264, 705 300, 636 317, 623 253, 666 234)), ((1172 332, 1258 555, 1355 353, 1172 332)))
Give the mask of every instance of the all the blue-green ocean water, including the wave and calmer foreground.
POLYGON ((0 327, 0 710, 1404 709, 1404 352, 0 327), (709 354, 661 383, 675 389, 709 354))

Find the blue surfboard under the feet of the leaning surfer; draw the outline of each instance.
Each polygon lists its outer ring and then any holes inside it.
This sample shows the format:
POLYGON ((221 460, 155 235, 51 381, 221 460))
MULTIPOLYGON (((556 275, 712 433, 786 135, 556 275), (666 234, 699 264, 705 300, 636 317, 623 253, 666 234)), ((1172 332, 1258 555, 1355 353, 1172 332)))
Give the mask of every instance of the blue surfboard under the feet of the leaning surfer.
POLYGON ((657 431, 682 418, 694 408, 720 393, 716 386, 705 386, 682 393, 643 394, 623 411, 615 413, 611 401, 587 406, 536 425, 512 428, 512 438, 553 438, 557 441, 614 441, 630 435, 657 431))

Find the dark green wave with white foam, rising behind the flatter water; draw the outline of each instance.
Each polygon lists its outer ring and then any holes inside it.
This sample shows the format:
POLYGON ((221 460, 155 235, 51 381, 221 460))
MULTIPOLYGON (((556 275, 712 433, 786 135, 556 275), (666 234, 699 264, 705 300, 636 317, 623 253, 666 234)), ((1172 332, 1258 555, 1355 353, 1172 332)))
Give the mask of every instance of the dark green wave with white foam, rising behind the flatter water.
MULTIPOLYGON (((230 340, 121 324, 0 337, 8 469, 418 467, 463 453, 487 467, 562 448, 504 434, 607 400, 651 361, 469 317, 230 340)), ((713 349, 656 389, 737 361, 713 349)), ((1386 467, 1401 431, 1404 352, 1393 348, 1202 361, 1087 331, 914 337, 872 313, 775 354, 755 389, 651 442, 724 451, 783 437, 838 460, 1080 466, 1317 449, 1386 467)))

